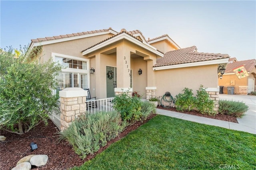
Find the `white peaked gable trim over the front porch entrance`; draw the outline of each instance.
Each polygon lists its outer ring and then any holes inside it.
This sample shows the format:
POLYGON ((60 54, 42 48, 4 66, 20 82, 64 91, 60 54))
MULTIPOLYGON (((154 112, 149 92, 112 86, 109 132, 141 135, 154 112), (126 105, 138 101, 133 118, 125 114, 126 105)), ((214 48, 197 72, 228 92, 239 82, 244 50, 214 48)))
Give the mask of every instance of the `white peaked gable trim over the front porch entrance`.
POLYGON ((125 40, 128 40, 144 49, 147 49, 148 51, 151 51, 153 53, 155 53, 156 55, 160 56, 160 57, 163 57, 164 54, 163 53, 160 53, 159 51, 157 51, 157 49, 155 47, 153 47, 152 45, 149 45, 149 44, 146 44, 146 43, 142 43, 140 42, 139 40, 133 38, 132 36, 126 34, 125 32, 118 35, 118 36, 115 36, 113 38, 110 38, 109 40, 106 40, 105 42, 102 42, 98 45, 95 45, 94 47, 90 48, 90 49, 87 49, 86 51, 83 51, 82 52, 82 55, 86 55, 88 53, 92 53, 93 51, 96 51, 102 47, 105 47, 106 45, 110 45, 111 43, 114 43, 114 42, 118 42, 119 40, 122 40, 122 39, 125 39, 125 40))

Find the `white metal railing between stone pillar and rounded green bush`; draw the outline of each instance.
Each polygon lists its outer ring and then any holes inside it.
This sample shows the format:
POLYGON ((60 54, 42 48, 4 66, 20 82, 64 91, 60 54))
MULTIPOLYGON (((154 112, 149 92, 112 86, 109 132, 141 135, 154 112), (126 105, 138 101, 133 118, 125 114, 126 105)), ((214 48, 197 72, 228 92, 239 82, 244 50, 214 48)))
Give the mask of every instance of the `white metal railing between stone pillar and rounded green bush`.
POLYGON ((113 111, 113 103, 112 100, 114 97, 107 99, 97 99, 92 101, 86 101, 86 111, 88 113, 96 113, 99 111, 113 111))

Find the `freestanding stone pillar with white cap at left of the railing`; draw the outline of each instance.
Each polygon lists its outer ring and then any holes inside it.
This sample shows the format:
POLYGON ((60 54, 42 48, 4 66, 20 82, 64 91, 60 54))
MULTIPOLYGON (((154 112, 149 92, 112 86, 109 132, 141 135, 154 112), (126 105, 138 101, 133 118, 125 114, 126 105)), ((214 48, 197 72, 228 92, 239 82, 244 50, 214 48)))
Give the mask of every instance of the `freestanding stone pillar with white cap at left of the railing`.
POLYGON ((73 87, 60 91, 60 130, 63 131, 80 114, 86 113, 87 91, 73 87))

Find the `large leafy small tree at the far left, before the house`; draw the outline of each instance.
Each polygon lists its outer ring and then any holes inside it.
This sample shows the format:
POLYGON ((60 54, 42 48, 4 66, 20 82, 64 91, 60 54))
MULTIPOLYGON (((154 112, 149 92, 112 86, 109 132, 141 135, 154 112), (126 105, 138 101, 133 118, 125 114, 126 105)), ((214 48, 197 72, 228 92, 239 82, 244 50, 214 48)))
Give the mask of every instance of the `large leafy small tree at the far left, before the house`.
POLYGON ((56 75, 61 65, 39 63, 41 47, 0 50, 0 128, 23 134, 44 121, 56 107, 56 75))

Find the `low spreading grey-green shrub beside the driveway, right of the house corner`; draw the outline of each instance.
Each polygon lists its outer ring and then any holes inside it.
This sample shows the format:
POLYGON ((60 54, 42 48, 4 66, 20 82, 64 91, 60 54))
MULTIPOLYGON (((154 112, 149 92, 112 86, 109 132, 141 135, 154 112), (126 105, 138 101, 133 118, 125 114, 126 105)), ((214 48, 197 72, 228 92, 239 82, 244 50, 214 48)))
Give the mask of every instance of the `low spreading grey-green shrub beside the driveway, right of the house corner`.
POLYGON ((239 101, 219 101, 219 113, 222 115, 231 115, 234 117, 242 117, 246 111, 248 111, 248 106, 243 102, 239 101))

